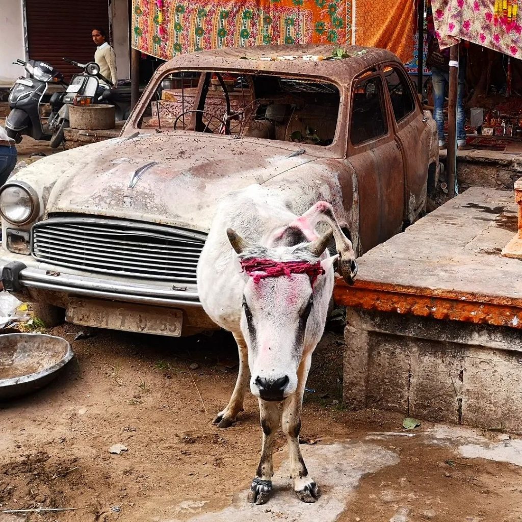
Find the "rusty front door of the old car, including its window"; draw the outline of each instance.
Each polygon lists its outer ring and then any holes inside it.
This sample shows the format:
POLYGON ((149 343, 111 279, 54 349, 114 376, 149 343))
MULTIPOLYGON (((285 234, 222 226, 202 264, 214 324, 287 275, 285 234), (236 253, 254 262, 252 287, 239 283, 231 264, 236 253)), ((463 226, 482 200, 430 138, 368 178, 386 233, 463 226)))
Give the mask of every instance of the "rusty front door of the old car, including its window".
POLYGON ((360 254, 402 230, 404 167, 386 103, 382 73, 353 82, 348 161, 359 186, 360 254))

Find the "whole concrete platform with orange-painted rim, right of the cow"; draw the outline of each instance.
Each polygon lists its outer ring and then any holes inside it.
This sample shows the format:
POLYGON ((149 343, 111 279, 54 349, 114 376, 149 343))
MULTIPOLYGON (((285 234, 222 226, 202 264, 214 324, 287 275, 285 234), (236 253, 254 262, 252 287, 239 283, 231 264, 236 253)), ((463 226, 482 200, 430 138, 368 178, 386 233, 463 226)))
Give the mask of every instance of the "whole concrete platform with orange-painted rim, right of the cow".
POLYGON ((471 187, 360 258, 343 399, 522 433, 522 260, 513 192, 471 187))

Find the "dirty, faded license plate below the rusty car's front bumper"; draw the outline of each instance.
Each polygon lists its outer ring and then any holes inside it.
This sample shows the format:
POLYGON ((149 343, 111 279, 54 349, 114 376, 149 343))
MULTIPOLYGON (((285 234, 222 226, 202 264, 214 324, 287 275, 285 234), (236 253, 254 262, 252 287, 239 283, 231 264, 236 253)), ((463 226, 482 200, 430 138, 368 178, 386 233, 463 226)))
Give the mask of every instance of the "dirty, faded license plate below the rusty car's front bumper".
POLYGON ((77 325, 180 337, 181 310, 94 299, 69 299, 67 321, 77 325))

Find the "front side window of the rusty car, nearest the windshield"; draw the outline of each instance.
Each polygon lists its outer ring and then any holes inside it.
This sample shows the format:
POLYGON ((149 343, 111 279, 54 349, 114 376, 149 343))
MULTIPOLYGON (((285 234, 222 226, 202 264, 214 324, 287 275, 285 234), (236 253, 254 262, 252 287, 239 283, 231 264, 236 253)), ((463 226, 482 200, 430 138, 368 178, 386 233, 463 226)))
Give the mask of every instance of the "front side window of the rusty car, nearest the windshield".
POLYGON ((359 80, 353 89, 350 139, 353 145, 379 138, 388 132, 380 76, 359 80))

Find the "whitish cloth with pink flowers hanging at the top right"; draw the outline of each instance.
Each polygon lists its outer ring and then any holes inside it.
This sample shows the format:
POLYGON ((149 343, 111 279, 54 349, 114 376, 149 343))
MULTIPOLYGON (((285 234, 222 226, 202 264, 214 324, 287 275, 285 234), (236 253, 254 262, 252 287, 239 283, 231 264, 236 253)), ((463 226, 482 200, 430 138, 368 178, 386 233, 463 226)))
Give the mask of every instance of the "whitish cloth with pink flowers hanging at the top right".
POLYGON ((432 0, 441 49, 468 40, 522 58, 522 5, 516 17, 495 16, 495 0, 432 0))

